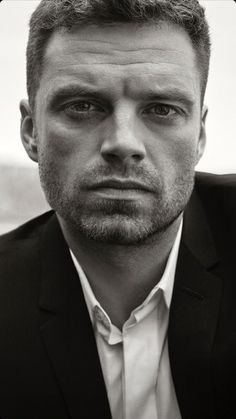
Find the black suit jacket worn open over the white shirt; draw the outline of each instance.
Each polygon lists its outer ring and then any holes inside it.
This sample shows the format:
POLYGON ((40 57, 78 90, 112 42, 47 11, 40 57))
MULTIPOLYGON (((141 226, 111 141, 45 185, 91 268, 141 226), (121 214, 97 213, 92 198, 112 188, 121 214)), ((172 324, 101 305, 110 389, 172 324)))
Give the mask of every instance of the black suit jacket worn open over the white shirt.
MULTIPOLYGON (((236 418, 235 210, 236 177, 197 175, 168 330, 183 419, 236 418)), ((111 419, 82 289, 53 212, 0 240, 0 417, 111 419)))

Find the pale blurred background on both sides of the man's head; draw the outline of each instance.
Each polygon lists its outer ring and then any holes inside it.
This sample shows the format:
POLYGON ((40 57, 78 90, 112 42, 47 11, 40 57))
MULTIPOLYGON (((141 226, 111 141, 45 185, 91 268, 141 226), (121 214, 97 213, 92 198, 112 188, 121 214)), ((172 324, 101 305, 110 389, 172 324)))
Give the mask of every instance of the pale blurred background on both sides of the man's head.
MULTIPOLYGON (((19 101, 26 98, 28 22, 37 0, 0 3, 0 234, 48 209, 37 165, 20 141, 19 101)), ((211 28, 212 58, 206 104, 207 148, 197 169, 236 172, 236 3, 200 1, 211 28)))

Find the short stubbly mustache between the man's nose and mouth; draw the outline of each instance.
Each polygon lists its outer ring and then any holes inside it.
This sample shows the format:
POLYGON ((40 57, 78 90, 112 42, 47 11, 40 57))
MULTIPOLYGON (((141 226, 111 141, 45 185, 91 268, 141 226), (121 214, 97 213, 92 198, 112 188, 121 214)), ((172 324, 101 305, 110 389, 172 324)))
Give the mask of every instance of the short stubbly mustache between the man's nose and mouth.
POLYGON ((126 184, 137 184, 152 192, 162 189, 161 177, 153 168, 143 166, 124 166, 122 168, 111 166, 91 166, 79 179, 82 189, 93 189, 97 185, 118 181, 126 184))

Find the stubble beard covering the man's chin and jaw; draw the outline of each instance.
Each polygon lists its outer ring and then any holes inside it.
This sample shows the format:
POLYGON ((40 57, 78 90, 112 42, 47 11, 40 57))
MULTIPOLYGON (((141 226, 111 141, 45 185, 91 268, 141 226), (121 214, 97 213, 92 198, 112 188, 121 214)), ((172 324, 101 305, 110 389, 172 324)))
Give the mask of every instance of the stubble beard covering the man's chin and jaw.
POLYGON ((166 231, 184 210, 194 185, 194 169, 175 179, 170 190, 159 184, 149 207, 142 201, 86 199, 80 185, 63 185, 58 176, 40 165, 46 199, 75 237, 100 243, 134 246, 150 242, 166 231), (74 189, 74 190, 73 190, 74 189))

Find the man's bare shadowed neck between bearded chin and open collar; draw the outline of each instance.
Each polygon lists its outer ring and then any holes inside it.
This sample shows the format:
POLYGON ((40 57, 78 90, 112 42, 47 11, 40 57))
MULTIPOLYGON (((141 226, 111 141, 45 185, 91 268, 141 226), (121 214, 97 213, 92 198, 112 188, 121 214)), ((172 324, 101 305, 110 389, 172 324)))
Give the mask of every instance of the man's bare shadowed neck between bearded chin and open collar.
POLYGON ((160 281, 181 217, 165 232, 138 246, 99 243, 74 235, 58 217, 68 246, 83 268, 93 293, 113 324, 122 328, 160 281))

